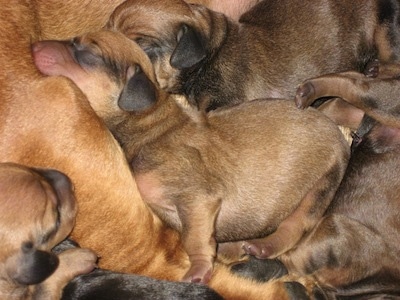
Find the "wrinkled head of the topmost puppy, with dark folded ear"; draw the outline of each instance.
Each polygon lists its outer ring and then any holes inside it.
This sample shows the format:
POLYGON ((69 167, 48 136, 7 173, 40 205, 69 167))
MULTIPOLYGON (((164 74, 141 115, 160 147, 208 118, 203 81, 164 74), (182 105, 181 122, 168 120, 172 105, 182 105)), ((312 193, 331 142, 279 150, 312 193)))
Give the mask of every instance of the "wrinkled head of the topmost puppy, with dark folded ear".
POLYGON ((128 0, 116 8, 107 26, 143 48, 162 89, 184 93, 184 73, 200 68, 221 43, 225 23, 222 14, 182 0, 128 0))

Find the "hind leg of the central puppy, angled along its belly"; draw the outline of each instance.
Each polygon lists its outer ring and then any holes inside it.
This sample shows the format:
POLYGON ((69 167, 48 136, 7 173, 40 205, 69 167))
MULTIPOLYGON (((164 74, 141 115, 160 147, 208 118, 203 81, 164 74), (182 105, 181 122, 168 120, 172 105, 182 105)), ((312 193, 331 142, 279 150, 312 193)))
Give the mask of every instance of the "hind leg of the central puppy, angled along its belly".
POLYGON ((265 238, 246 241, 245 251, 257 258, 275 258, 293 248, 325 213, 343 178, 345 168, 345 164, 334 165, 315 183, 296 210, 279 224, 274 233, 265 238))

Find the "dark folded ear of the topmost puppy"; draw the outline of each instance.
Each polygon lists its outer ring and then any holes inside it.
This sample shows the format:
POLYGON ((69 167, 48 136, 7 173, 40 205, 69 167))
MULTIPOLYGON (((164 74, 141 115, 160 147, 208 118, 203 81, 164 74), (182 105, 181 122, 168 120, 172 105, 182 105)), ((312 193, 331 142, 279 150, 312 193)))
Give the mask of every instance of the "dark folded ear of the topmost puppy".
POLYGON ((190 68, 204 59, 206 49, 200 34, 188 25, 182 25, 178 33, 178 45, 170 58, 170 64, 176 69, 190 68))

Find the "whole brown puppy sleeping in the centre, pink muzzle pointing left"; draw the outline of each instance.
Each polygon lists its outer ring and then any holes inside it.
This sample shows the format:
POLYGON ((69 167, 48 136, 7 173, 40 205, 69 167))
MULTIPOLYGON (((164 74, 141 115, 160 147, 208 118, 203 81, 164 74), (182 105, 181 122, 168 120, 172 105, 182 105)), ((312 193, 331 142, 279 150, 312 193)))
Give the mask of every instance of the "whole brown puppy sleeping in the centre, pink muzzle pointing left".
POLYGON ((36 48, 39 70, 84 91, 125 150, 143 199, 181 232, 185 281, 208 282, 217 242, 266 237, 256 247, 269 257, 292 248, 344 174, 349 147, 314 109, 254 100, 206 115, 157 89, 146 54, 116 32, 36 48))

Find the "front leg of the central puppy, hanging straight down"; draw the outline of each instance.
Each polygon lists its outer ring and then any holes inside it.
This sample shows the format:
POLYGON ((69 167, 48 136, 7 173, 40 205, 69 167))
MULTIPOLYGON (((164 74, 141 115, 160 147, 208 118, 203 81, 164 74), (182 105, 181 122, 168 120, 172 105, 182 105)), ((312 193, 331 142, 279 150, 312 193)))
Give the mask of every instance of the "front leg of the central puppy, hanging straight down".
POLYGON ((183 281, 208 283, 217 251, 215 222, 221 199, 214 195, 195 197, 190 203, 178 205, 182 221, 183 246, 191 263, 183 281))

